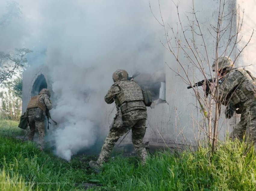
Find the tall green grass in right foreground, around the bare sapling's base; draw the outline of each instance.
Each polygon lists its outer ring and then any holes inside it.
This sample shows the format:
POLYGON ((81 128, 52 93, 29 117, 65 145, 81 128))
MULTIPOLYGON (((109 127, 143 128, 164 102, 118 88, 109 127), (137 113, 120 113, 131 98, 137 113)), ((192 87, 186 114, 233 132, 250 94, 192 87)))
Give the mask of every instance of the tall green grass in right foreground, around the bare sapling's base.
POLYGON ((197 152, 156 153, 142 166, 131 158, 117 157, 106 163, 91 190, 256 190, 254 147, 239 141, 221 143, 197 152))

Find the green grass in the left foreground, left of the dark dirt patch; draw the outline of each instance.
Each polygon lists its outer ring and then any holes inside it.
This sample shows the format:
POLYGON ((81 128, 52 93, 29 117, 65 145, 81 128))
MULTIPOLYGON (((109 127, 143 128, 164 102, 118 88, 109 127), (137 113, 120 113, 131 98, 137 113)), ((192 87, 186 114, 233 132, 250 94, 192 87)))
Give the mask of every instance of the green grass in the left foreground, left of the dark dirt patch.
POLYGON ((32 142, 0 136, 0 145, 0 180, 10 188, 19 185, 24 190, 83 190, 78 183, 89 179, 86 170, 41 152, 32 142))

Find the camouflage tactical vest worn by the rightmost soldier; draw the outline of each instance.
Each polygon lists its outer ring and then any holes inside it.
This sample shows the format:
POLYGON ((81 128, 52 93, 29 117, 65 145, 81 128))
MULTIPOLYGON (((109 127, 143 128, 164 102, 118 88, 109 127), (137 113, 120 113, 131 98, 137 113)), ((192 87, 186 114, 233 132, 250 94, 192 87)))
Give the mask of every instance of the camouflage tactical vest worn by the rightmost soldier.
POLYGON ((256 98, 256 78, 251 73, 244 69, 236 69, 243 74, 242 82, 235 87, 235 91, 231 93, 231 102, 239 107, 239 104, 246 102, 248 99, 256 98))

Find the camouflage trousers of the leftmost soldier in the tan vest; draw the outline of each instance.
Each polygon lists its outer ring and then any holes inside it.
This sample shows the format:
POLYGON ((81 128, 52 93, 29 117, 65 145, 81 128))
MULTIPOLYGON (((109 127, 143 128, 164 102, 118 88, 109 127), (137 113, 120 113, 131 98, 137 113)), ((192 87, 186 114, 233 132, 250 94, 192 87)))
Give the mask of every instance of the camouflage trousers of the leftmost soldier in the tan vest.
POLYGON ((35 121, 34 116, 29 116, 29 133, 28 133, 28 140, 33 141, 34 135, 35 135, 35 130, 38 130, 39 137, 38 137, 38 144, 39 148, 41 150, 44 149, 45 142, 44 142, 44 137, 45 137, 45 122, 44 121, 35 121))

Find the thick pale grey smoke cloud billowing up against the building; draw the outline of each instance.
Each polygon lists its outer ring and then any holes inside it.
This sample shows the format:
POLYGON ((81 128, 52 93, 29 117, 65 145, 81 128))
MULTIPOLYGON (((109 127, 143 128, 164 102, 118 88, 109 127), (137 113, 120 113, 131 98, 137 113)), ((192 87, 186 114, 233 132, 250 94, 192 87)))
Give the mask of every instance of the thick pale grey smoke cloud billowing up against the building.
MULTIPOLYGON (((163 69, 162 28, 144 0, 17 2, 22 14, 1 29, 0 49, 30 48, 29 64, 48 66, 51 115, 59 122, 50 139, 55 153, 70 160, 105 136, 104 96, 116 69, 130 75, 163 69)), ((158 17, 158 1, 151 7, 158 17)), ((163 7, 167 13, 168 4, 163 7)), ((5 2, 0 11, 6 11, 5 2)))

